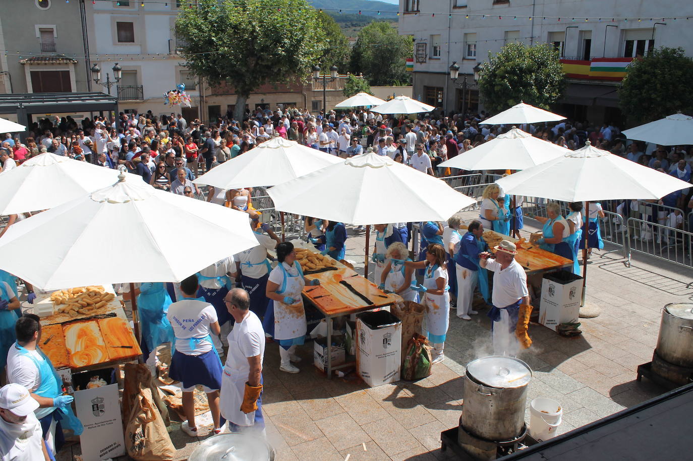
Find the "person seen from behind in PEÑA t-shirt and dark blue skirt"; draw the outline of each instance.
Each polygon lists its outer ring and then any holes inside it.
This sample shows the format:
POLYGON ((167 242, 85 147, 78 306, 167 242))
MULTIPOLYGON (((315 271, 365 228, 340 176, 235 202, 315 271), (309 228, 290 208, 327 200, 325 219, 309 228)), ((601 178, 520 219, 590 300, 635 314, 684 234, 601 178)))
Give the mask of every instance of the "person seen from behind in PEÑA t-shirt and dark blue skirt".
POLYGON ((222 366, 219 355, 211 343, 211 334, 220 333, 217 312, 208 302, 197 300, 198 276, 191 275, 180 282, 182 300, 168 306, 166 318, 173 327, 175 352, 171 358, 169 377, 180 381, 183 390, 183 412, 187 420, 181 430, 197 437, 193 391, 201 385, 207 393, 209 410, 214 422, 214 433, 221 432, 219 417, 219 390, 222 366))

